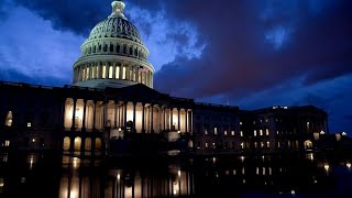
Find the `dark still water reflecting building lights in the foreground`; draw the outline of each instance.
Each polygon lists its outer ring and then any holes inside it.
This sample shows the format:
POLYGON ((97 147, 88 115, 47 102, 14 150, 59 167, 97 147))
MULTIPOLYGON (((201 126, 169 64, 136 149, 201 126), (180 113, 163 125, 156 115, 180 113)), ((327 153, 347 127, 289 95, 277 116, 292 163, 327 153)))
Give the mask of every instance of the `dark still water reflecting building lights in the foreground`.
POLYGON ((351 157, 0 154, 0 197, 351 197, 351 157))

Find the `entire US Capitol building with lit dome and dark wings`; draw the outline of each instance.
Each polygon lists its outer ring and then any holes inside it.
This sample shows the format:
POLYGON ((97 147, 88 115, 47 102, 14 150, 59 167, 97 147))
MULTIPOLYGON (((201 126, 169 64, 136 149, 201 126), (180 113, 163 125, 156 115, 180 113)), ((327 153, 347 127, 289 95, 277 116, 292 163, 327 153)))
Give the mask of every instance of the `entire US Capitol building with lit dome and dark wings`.
POLYGON ((248 111, 154 90, 150 52, 125 4, 111 4, 81 45, 72 86, 0 81, 1 150, 273 153, 315 150, 329 132, 311 106, 248 111))

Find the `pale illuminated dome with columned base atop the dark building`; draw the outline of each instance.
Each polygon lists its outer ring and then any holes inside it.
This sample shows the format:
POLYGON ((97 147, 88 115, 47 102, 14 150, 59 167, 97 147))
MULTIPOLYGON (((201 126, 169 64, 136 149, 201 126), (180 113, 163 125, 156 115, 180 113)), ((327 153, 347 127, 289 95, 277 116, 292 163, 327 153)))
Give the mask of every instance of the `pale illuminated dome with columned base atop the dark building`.
POLYGON ((98 23, 81 45, 74 64, 74 85, 92 88, 144 84, 153 88, 154 68, 138 29, 123 14, 124 3, 113 1, 111 15, 98 23))

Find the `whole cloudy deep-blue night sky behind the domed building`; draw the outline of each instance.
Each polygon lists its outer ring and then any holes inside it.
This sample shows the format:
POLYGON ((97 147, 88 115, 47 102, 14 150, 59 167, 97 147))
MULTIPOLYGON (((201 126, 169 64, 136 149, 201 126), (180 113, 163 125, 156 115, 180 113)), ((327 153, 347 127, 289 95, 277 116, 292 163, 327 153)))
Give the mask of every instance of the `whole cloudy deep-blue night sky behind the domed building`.
MULTIPOLYGON (((111 0, 0 0, 0 80, 72 84, 111 0)), ((256 109, 314 105, 352 135, 351 0, 125 0, 154 88, 256 109)))

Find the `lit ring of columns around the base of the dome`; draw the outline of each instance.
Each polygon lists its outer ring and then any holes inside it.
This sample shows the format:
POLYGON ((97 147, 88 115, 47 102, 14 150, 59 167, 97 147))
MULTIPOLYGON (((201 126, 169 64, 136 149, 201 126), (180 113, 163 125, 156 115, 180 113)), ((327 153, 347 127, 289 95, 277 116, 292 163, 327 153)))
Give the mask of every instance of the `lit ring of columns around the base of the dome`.
POLYGON ((153 73, 143 66, 109 62, 89 63, 74 68, 74 84, 91 79, 122 79, 152 87, 153 73))

